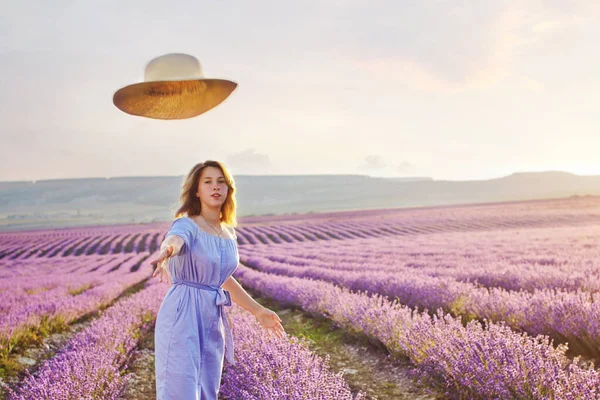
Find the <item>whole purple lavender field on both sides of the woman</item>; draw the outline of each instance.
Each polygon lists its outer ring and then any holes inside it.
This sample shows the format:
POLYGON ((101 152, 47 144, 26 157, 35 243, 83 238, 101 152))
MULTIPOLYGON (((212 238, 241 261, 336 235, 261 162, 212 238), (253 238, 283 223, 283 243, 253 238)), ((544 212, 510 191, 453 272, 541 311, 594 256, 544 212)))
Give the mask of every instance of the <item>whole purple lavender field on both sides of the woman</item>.
MULTIPOLYGON (((0 234, 5 398, 149 398, 134 382, 153 372, 131 364, 167 290, 148 258, 169 224, 0 234)), ((599 197, 248 217, 237 236, 243 286, 375 344, 429 398, 600 398, 599 197)), ((223 399, 383 398, 229 316, 223 399)))

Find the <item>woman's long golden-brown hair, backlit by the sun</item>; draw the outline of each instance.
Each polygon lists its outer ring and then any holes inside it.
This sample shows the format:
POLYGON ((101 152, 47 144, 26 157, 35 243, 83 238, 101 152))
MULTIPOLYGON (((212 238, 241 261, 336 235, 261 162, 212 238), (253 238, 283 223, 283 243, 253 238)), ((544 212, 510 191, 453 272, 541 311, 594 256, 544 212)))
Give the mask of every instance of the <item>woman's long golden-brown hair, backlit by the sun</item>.
POLYGON ((175 212, 175 218, 180 218, 187 214, 188 217, 200 215, 201 203, 196 196, 198 190, 198 182, 200 181, 200 175, 202 170, 206 167, 219 168, 225 177, 225 183, 227 184, 227 197, 225 202, 221 206, 221 222, 226 225, 236 227, 237 216, 236 216, 236 200, 235 200, 235 182, 233 177, 229 173, 227 167, 219 161, 206 160, 198 163, 192 167, 187 177, 183 181, 181 186, 181 194, 179 195, 179 202, 181 206, 175 212))

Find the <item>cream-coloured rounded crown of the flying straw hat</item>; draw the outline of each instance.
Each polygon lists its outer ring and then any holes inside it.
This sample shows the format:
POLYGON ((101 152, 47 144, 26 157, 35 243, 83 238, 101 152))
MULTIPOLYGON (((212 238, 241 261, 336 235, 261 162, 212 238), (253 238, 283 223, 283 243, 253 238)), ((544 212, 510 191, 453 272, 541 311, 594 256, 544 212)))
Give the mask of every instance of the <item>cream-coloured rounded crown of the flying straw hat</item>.
POLYGON ((144 81, 178 81, 204 79, 202 65, 194 56, 182 53, 165 54, 152 59, 144 71, 144 81))

